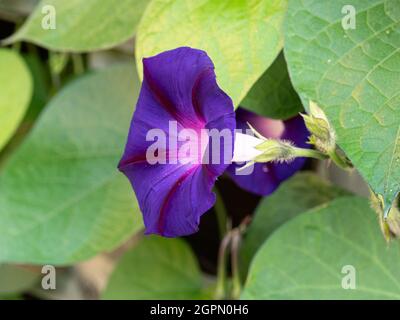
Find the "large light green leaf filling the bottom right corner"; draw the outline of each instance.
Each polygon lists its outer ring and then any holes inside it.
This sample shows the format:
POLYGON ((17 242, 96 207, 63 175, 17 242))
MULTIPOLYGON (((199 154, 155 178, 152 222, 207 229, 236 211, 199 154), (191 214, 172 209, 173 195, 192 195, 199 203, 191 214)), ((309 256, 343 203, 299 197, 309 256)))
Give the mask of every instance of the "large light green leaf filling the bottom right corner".
POLYGON ((299 215, 265 242, 242 298, 400 299, 399 249, 399 242, 385 242, 367 199, 339 198, 299 215), (352 275, 355 289, 344 289, 352 275))

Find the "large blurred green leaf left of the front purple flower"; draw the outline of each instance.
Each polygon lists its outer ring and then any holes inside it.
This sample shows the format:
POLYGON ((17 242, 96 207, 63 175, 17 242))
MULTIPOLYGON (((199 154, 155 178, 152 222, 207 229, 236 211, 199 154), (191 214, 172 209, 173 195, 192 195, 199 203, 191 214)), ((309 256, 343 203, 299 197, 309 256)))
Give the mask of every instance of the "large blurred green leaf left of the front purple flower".
POLYGON ((0 261, 70 264, 142 228, 117 170, 138 91, 123 64, 54 97, 0 175, 0 261))

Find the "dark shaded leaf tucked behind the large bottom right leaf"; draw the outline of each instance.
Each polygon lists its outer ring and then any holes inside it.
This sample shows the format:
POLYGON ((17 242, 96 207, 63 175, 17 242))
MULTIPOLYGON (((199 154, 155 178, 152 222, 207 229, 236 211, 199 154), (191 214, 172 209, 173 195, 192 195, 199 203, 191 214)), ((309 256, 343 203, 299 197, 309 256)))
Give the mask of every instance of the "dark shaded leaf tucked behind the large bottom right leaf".
POLYGON ((301 172, 285 181, 278 190, 258 205, 240 250, 241 273, 265 240, 281 225, 300 213, 350 193, 312 173, 301 172))

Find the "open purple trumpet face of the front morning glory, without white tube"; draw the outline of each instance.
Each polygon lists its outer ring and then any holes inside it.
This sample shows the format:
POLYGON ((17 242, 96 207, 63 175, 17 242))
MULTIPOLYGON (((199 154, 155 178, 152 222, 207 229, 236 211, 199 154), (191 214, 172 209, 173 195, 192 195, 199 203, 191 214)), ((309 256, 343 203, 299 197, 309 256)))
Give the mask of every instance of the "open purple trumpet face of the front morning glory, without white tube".
MULTIPOLYGON (((136 193, 146 234, 188 235, 198 230, 200 216, 214 205, 213 185, 233 156, 232 100, 218 87, 214 65, 204 51, 187 47, 166 51, 143 59, 143 69, 143 84, 118 167, 136 193), (167 143, 149 156, 155 143, 148 135, 152 129, 165 133, 167 143), (212 154, 207 136, 205 144, 191 140, 190 146, 198 151, 194 155, 180 151, 185 142, 176 142, 177 136, 189 130, 204 137, 202 129, 229 131, 230 138, 220 147, 230 145, 228 154, 213 154, 220 161, 203 161, 212 154), (155 162, 155 158, 167 161, 155 162)), ((159 136, 157 143, 161 140, 159 136)))

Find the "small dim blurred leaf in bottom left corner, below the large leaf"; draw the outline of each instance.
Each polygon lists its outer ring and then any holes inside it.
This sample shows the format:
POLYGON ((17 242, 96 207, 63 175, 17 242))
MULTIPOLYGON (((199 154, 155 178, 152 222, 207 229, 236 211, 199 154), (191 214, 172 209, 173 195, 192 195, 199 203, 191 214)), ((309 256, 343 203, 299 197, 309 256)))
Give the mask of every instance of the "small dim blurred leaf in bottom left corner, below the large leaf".
POLYGON ((39 271, 13 265, 0 265, 0 295, 11 296, 33 287, 40 278, 39 271))

